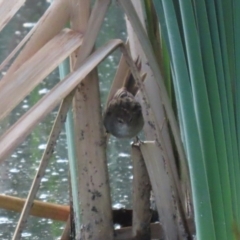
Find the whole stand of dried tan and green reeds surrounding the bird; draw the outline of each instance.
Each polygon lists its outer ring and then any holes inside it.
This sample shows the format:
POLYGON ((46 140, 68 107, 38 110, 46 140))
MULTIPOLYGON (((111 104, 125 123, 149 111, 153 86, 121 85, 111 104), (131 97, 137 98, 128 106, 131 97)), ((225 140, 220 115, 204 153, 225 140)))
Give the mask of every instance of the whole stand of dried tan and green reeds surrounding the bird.
MULTIPOLYGON (((22 209, 12 239, 21 238, 37 207, 63 214, 62 239, 239 239, 240 4, 117 3, 126 16, 126 43, 116 36, 95 47, 110 0, 55 0, 0 65, 15 57, 0 81, 0 120, 58 66, 62 79, 0 136, 2 163, 58 107, 27 199, 0 196, 0 207, 22 209), (121 59, 104 108, 131 76, 145 122, 144 141, 132 144, 132 226, 117 231, 97 72, 116 50, 121 59), (34 201, 66 118, 72 211, 34 201), (151 194, 158 223, 151 221, 151 194)), ((0 2, 0 29, 23 4, 0 2)))

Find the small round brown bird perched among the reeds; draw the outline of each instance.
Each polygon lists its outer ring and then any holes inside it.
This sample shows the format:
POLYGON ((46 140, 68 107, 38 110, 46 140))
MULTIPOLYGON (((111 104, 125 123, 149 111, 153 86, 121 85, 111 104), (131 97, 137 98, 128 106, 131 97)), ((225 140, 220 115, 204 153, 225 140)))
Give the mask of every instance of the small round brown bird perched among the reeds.
POLYGON ((135 137, 144 125, 140 103, 126 88, 120 88, 107 106, 103 123, 115 137, 135 137))

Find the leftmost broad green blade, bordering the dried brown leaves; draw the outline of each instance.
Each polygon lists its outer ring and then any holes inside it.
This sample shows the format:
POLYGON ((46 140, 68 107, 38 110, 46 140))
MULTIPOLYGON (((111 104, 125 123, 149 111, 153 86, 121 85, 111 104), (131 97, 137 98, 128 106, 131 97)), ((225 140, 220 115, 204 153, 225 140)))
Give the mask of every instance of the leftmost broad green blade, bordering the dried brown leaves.
MULTIPOLYGON (((195 221, 197 226, 197 238, 216 239, 208 185, 208 176, 204 161, 204 154, 206 153, 204 152, 204 148, 201 144, 202 136, 200 135, 199 131, 199 127, 203 126, 199 126, 199 122, 197 122, 197 120, 199 120, 197 117, 199 117, 200 112, 197 112, 198 109, 196 109, 196 91, 194 92, 191 89, 192 79, 190 76, 193 77, 192 75, 196 73, 193 71, 194 69, 190 69, 190 72, 188 71, 189 66, 187 60, 193 60, 191 57, 194 56, 189 54, 188 57, 190 59, 187 59, 184 54, 184 44, 181 39, 180 28, 177 22, 177 15, 173 6, 173 2, 170 0, 161 2, 154 1, 154 4, 159 19, 161 12, 164 12, 165 16, 165 26, 167 32, 167 37, 165 39, 168 40, 168 45, 170 47, 172 69, 174 72, 174 84, 178 100, 177 105, 179 112, 181 112, 180 117, 182 123, 182 133, 189 160, 189 168, 193 188, 195 221)), ((190 13, 192 13, 192 9, 190 9, 190 13)), ((193 15, 190 17, 193 17, 193 15)), ((188 19, 188 21, 190 24, 194 23, 194 19, 188 19)), ((187 44, 192 44, 189 42, 189 39, 187 44)), ((196 54, 198 54, 198 52, 196 54)), ((199 56, 195 56, 195 58, 197 57, 199 56)), ((198 77, 202 77, 203 75, 202 72, 197 74, 199 75, 198 77)))

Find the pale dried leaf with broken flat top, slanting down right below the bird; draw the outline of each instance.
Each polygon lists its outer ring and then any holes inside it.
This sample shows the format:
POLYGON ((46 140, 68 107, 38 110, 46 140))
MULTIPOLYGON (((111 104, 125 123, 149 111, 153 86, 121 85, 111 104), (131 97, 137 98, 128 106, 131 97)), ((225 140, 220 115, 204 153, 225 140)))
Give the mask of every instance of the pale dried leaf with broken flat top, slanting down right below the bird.
POLYGON ((181 239, 179 233, 176 196, 173 195, 169 171, 155 142, 144 142, 140 149, 148 170, 152 189, 166 239, 181 239))

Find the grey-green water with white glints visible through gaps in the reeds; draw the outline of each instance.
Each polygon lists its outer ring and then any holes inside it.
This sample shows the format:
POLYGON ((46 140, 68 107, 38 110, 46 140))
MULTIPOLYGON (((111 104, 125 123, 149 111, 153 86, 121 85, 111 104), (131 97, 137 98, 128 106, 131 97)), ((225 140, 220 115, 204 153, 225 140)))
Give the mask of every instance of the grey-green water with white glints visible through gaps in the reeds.
MULTIPOLYGON (((31 27, 49 6, 46 0, 27 0, 24 7, 15 15, 11 22, 0 33, 0 62, 2 62, 14 47, 27 34, 31 27)), ((122 10, 113 1, 104 20, 97 46, 101 46, 111 38, 125 40, 125 22, 122 10)), ((108 95, 110 84, 114 77, 120 53, 109 56, 98 68, 102 102, 108 95)), ((5 72, 1 72, 2 77, 5 72)), ((30 109, 46 94, 58 81, 58 69, 39 84, 4 120, 0 122, 0 133, 16 122, 20 116, 30 109)), ((39 124, 32 134, 8 157, 0 167, 0 193, 26 198, 32 180, 45 149, 57 109, 39 124)), ((130 142, 120 141, 111 137, 108 146, 108 166, 110 173, 113 207, 131 206, 131 160, 130 142)), ((68 204, 68 157, 66 147, 66 133, 62 130, 51 162, 46 171, 38 191, 37 199, 46 202, 68 204)), ((20 214, 0 209, 0 239, 12 238, 20 214)), ((33 240, 58 239, 65 224, 30 217, 22 239, 33 240)))

